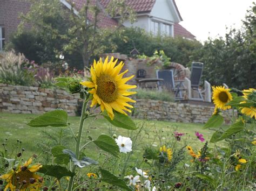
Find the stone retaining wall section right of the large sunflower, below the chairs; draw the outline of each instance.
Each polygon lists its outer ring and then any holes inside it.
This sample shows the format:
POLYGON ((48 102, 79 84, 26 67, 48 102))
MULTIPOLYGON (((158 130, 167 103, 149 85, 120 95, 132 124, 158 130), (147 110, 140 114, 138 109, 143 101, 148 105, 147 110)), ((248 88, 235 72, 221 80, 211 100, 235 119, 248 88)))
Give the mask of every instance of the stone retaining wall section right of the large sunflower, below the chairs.
MULTIPOLYGON (((138 118, 183 123, 206 123, 212 116, 214 105, 194 105, 156 100, 136 100, 134 115, 138 118)), ((232 111, 224 112, 225 123, 230 123, 232 111)))

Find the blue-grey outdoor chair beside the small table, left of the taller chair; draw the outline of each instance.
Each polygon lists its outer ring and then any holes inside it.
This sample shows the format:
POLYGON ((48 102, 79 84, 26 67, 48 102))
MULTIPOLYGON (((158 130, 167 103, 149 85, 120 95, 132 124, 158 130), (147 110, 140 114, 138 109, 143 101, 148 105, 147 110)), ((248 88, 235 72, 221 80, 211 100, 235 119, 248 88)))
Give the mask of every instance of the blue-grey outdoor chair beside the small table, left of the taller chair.
POLYGON ((174 81, 173 70, 171 69, 161 69, 157 70, 157 78, 164 79, 163 81, 159 81, 159 87, 164 87, 167 90, 171 90, 174 92, 175 100, 184 100, 184 96, 182 95, 182 91, 186 88, 183 84, 183 80, 174 81))

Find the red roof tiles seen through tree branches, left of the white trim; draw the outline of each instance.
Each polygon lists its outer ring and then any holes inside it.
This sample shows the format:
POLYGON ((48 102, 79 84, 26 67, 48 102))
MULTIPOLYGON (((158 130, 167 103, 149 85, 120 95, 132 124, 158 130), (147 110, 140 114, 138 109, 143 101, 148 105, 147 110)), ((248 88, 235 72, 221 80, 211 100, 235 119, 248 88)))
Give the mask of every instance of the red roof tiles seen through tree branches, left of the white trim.
MULTIPOLYGON (((80 10, 83 5, 86 4, 87 0, 72 0, 72 2, 75 3, 75 7, 77 10, 80 10)), ((96 4, 96 0, 92 0, 90 1, 90 4, 95 5, 96 4)), ((112 26, 118 26, 118 22, 116 19, 111 18, 106 11, 104 10, 103 6, 101 4, 98 5, 99 9, 101 9, 101 11, 99 12, 98 18, 99 18, 99 22, 98 22, 98 26, 99 27, 112 27, 112 26)), ((93 19, 93 15, 91 13, 88 14, 88 18, 89 20, 93 19)))

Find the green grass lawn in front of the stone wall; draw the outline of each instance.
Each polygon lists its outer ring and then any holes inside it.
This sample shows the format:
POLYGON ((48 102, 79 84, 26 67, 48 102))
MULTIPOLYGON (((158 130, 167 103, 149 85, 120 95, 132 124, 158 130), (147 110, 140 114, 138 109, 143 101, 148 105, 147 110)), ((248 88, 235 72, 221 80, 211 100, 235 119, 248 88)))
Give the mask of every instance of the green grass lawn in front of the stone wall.
MULTIPOLYGON (((22 142, 21 147, 25 148, 23 157, 30 157, 33 154, 39 155, 42 151, 49 152, 51 147, 54 145, 62 144, 71 150, 75 149, 75 144, 73 143, 73 138, 69 128, 31 128, 26 125, 31 119, 37 117, 38 115, 32 114, 8 114, 0 113, 0 130, 1 143, 8 139, 8 145, 6 148, 12 150, 17 146, 17 140, 22 142)), ((139 137, 137 140, 136 148, 133 148, 133 158, 142 158, 142 151, 146 145, 154 145, 158 149, 162 143, 170 143, 173 140, 172 133, 174 131, 186 133, 184 137, 181 138, 183 145, 191 145, 199 149, 204 143, 201 143, 194 135, 195 131, 203 133, 204 138, 209 141, 212 135, 211 130, 203 130, 203 124, 193 124, 193 123, 172 123, 163 121, 142 121, 134 119, 138 126, 144 124, 139 137), (162 143, 160 143, 162 142, 162 143)), ((68 122, 71 124, 71 128, 75 133, 78 131, 79 117, 69 117, 68 122)), ((112 136, 116 134, 117 136, 122 135, 125 137, 134 137, 138 134, 139 130, 127 131, 122 128, 116 128, 111 126, 104 118, 97 118, 95 120, 88 119, 85 121, 85 127, 83 132, 83 142, 88 136, 96 139, 100 134, 105 133, 106 135, 112 136)), ((18 146, 20 146, 18 144, 18 146)), ((211 146, 211 144, 210 144, 211 146)), ((1 150, 3 150, 1 144, 1 150)), ((16 150, 15 150, 16 151, 16 150)), ((15 152, 14 151, 14 152, 15 152)), ((98 148, 90 144, 86 148, 86 155, 90 157, 96 157, 96 155, 101 152, 98 148), (89 153, 86 151, 90 150, 89 153)))

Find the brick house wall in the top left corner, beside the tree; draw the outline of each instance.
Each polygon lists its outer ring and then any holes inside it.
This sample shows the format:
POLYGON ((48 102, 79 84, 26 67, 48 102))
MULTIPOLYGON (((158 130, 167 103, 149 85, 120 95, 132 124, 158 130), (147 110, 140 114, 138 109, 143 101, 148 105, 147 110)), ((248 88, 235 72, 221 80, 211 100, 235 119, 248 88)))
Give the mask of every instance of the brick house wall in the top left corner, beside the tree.
MULTIPOLYGON (((27 13, 30 3, 26 0, 0 0, 0 26, 5 29, 5 42, 8 43, 10 35, 17 31, 17 26, 21 23, 19 18, 21 13, 27 13)), ((26 24, 25 28, 31 25, 26 24)))

